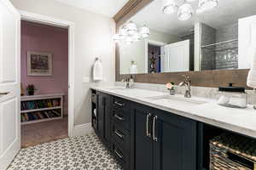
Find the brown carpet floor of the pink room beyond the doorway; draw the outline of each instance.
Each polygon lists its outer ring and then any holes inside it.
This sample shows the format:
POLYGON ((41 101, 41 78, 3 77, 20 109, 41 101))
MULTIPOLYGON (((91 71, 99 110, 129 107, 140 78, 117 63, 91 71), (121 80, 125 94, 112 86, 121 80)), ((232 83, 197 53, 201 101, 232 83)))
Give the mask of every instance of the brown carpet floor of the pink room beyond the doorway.
POLYGON ((68 118, 21 126, 21 148, 68 137, 68 118))

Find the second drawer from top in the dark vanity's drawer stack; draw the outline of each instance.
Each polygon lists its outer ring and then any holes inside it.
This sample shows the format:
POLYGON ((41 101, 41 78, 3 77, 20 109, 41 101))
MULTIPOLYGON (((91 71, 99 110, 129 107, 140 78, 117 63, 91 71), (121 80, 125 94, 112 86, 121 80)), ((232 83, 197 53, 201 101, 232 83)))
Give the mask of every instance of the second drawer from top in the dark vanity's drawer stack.
POLYGON ((120 127, 130 130, 130 113, 122 110, 112 110, 113 122, 119 123, 120 127))

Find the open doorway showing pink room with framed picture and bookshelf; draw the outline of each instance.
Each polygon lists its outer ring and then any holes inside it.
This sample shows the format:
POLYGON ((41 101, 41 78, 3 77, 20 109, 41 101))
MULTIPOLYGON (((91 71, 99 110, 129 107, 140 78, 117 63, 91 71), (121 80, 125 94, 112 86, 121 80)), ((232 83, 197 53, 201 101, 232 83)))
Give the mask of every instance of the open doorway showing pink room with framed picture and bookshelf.
POLYGON ((68 29, 20 21, 21 147, 68 136, 68 29))

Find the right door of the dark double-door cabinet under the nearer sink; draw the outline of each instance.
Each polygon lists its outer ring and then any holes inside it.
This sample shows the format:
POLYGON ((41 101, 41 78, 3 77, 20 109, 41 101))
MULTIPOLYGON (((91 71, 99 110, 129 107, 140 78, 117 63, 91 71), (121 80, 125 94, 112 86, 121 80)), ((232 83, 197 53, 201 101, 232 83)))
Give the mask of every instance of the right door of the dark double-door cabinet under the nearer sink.
POLYGON ((196 169, 196 122, 157 111, 155 170, 196 169))

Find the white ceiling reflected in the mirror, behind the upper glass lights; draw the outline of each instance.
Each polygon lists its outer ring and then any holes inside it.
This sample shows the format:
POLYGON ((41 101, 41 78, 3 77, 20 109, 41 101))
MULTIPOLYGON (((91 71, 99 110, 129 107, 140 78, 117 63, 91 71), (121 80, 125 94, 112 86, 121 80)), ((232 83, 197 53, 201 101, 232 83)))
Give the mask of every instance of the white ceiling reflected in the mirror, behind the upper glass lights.
MULTIPOLYGON (((147 25, 150 29, 171 34, 183 34, 194 28, 196 20, 201 20, 208 26, 218 28, 229 23, 237 22, 239 18, 256 14, 256 0, 219 0, 218 8, 213 8, 185 21, 177 20, 177 13, 163 14, 162 1, 154 0, 147 7, 134 15, 131 20, 140 26, 147 25)), ((178 3, 183 0, 176 0, 178 3)), ((191 3, 196 9, 198 1, 191 3)))

